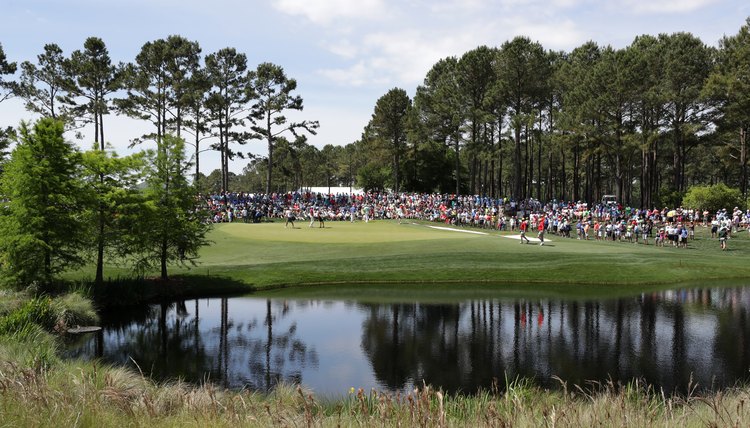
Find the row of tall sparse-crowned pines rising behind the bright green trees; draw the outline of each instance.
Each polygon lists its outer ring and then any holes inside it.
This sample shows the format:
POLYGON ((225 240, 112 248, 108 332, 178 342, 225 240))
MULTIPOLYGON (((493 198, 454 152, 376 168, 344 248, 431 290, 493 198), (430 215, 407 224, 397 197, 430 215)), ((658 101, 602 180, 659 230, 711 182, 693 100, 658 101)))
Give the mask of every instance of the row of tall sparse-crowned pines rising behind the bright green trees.
MULTIPOLYGON (((264 62, 250 69, 247 56, 230 47, 205 57, 201 52, 198 42, 172 35, 145 43, 133 62, 114 64, 104 41, 89 37, 68 56, 57 44, 47 44, 36 63, 19 66, 0 45, 0 102, 17 96, 29 112, 60 120, 68 131, 93 125, 100 150, 109 113, 145 121, 151 131, 133 144, 160 146, 167 134, 183 138, 192 146, 195 181, 202 177, 200 154, 218 151, 221 189, 230 186, 230 161, 252 156, 242 146, 261 140, 268 151, 264 171, 270 192, 276 145, 305 144, 318 122, 286 118, 286 112, 302 110, 303 102, 295 94, 296 80, 282 67, 264 62)), ((0 136, 5 156, 13 133, 7 128, 0 136)))

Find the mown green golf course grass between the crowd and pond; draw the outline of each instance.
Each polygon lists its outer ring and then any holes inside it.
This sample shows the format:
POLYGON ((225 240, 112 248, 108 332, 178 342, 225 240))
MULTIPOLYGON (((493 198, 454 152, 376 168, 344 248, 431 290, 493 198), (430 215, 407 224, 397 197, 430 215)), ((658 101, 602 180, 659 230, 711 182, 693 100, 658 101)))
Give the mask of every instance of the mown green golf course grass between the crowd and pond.
MULTIPOLYGON (((183 278, 221 278, 250 290, 338 284, 663 285, 750 278, 750 239, 742 232, 720 251, 698 228, 690 248, 579 241, 550 236, 545 246, 506 239, 509 232, 456 233, 436 223, 298 222, 215 225, 198 265, 173 268, 183 278), (436 229, 429 226, 440 226, 436 229)), ((453 228, 458 229, 459 228, 453 228)), ((478 229, 466 229, 479 231, 478 229)))

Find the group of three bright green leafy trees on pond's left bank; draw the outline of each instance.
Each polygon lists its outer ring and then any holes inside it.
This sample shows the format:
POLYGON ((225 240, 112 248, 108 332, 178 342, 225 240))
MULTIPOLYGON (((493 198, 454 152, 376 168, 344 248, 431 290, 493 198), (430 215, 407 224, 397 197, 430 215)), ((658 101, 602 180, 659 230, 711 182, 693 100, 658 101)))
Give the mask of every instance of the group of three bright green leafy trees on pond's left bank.
POLYGON ((157 150, 119 157, 81 152, 64 123, 22 123, 0 175, 0 286, 46 289, 60 274, 105 257, 141 274, 190 264, 208 243, 206 213, 188 181, 184 141, 164 135, 157 150))

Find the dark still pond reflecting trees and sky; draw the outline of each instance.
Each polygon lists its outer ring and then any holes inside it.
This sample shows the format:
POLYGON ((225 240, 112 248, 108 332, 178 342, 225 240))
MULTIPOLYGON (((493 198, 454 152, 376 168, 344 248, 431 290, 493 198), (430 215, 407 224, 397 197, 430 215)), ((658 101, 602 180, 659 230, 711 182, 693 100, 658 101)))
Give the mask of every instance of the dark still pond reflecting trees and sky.
POLYGON ((473 393, 517 377, 685 392, 750 380, 749 309, 750 287, 440 303, 251 295, 105 314, 102 332, 66 354, 157 380, 259 391, 284 382, 326 396, 423 383, 473 393))

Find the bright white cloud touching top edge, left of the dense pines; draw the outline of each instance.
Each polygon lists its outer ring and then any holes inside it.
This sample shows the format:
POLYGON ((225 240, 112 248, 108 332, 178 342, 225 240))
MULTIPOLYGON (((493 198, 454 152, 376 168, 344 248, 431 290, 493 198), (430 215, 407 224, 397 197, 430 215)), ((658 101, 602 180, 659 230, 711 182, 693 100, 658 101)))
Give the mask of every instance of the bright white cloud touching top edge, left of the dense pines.
POLYGON ((388 10, 384 0, 275 0, 273 6, 318 25, 328 25, 340 18, 382 18, 388 10))

